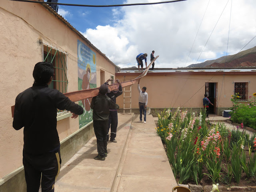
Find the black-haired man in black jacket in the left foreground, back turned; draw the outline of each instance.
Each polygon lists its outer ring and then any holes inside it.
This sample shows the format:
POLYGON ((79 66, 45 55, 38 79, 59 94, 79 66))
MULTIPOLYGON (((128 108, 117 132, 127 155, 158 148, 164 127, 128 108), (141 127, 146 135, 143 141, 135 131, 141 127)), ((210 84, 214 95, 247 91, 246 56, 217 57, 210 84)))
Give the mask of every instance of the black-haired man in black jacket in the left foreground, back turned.
POLYGON ((16 130, 24 127, 23 165, 27 192, 39 190, 41 174, 42 191, 54 192, 61 164, 57 108, 71 111, 72 118, 84 112, 64 94, 48 87, 53 76, 52 63, 37 63, 33 86, 18 94, 15 100, 13 127, 16 130))

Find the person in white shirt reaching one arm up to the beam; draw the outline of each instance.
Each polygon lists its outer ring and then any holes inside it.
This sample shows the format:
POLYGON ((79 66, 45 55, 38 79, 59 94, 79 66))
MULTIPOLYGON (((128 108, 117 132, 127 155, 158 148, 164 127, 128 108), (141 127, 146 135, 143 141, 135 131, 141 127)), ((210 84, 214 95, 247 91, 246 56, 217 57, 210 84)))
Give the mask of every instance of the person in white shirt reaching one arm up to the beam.
POLYGON ((147 112, 147 104, 148 104, 148 93, 146 93, 146 87, 143 87, 140 90, 140 80, 138 81, 138 92, 139 92, 139 109, 140 109, 140 120, 138 122, 142 122, 142 111, 144 114, 144 123, 146 123, 146 112, 147 112))

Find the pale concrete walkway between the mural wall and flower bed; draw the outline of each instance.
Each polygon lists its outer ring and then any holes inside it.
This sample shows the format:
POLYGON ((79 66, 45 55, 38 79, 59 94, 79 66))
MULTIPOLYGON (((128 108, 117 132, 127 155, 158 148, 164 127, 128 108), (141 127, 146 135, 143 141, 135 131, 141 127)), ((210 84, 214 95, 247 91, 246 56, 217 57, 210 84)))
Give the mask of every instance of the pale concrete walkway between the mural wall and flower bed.
POLYGON ((93 159, 93 137, 62 165, 55 192, 170 192, 177 184, 154 119, 138 120, 138 115, 118 114, 118 142, 108 142, 106 160, 93 159))

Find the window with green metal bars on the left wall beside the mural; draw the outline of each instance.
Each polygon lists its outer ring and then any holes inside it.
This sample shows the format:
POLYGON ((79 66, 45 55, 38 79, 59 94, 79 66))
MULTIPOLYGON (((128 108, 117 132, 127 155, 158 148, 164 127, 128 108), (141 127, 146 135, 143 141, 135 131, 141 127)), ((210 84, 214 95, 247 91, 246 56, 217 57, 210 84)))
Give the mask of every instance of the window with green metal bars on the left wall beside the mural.
MULTIPOLYGON (((54 66, 54 77, 49 88, 57 89, 62 93, 68 91, 67 78, 67 52, 54 48, 48 44, 43 43, 43 61, 50 62, 54 66)), ((58 113, 63 112, 58 110, 58 113)))

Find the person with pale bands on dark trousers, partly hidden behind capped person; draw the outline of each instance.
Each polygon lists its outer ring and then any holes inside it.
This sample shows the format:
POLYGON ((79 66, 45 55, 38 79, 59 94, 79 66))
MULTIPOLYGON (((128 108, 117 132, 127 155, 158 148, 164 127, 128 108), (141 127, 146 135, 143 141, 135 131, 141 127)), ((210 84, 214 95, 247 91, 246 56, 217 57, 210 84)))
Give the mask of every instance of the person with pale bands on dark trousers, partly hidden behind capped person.
MULTIPOLYGON (((104 84, 108 85, 108 82, 112 81, 113 79, 108 79, 104 84)), ((116 80, 116 83, 118 84, 118 91, 110 93, 107 93, 107 96, 116 103, 116 98, 120 95, 122 95, 122 85, 120 84, 119 80, 116 80)), ((109 117, 108 117, 108 132, 111 126, 111 133, 110 133, 110 141, 116 143, 116 132, 117 132, 117 125, 118 125, 118 115, 117 115, 117 109, 110 109, 109 110, 109 117)), ((109 134, 107 134, 107 141, 109 140, 109 134)))

